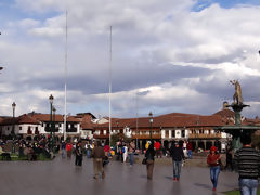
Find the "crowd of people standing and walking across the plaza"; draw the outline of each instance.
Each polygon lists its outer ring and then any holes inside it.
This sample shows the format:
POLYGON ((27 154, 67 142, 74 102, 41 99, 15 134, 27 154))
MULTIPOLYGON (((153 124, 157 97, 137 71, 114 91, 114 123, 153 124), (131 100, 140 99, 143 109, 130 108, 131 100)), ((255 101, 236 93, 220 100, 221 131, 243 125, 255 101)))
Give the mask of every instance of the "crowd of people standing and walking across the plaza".
MULTIPOLYGON (((222 156, 216 146, 211 146, 207 156, 207 164, 210 169, 210 181, 212 182, 212 191, 217 191, 219 174, 221 170, 236 170, 239 174, 239 188, 243 195, 256 195, 258 187, 258 178, 260 176, 260 153, 251 146, 251 138, 244 135, 242 139, 243 147, 236 153, 233 150, 226 150, 226 161, 223 167, 222 156)), ((72 159, 75 154, 75 166, 81 167, 83 155, 93 159, 94 179, 105 179, 104 167, 114 158, 121 162, 129 161, 129 166, 134 165, 134 156, 143 155, 142 164, 146 166, 147 179, 153 180, 155 166, 155 157, 171 156, 173 181, 179 182, 181 178, 181 169, 185 159, 193 158, 193 147, 190 142, 173 141, 169 148, 164 148, 160 142, 147 141, 145 148, 140 151, 136 148, 134 140, 126 142, 119 140, 114 146, 108 143, 95 141, 62 141, 53 142, 50 136, 40 135, 34 141, 24 139, 0 140, 0 154, 2 159, 11 159, 10 154, 16 153, 21 158, 26 157, 28 160, 37 160, 39 155, 46 158, 53 158, 55 153, 61 148, 62 158, 72 159), (10 151, 10 152, 6 152, 10 151)))

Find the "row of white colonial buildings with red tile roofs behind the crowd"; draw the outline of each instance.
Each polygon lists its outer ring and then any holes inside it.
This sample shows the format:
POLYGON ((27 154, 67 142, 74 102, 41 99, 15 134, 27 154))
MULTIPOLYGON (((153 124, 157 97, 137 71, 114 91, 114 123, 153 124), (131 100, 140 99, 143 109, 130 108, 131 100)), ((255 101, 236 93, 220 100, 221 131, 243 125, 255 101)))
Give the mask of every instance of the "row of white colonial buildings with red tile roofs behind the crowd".
MULTIPOLYGON (((148 140, 159 141, 167 147, 169 142, 176 140, 188 141, 193 150, 209 150, 212 145, 225 150, 226 143, 232 136, 225 132, 214 130, 216 127, 235 122, 235 114, 223 103, 223 108, 212 115, 196 115, 171 113, 166 115, 140 118, 96 118, 91 113, 80 113, 76 116, 67 116, 66 128, 64 128, 64 116, 54 114, 52 121, 50 114, 28 113, 18 117, 0 117, 0 136, 20 136, 34 140, 39 135, 49 135, 50 132, 63 139, 64 129, 66 136, 86 140, 101 140, 106 142, 110 135, 118 134, 119 138, 128 138, 135 141, 138 148, 144 148, 148 140), (109 128, 110 127, 110 128, 109 128), (110 134, 109 134, 110 131, 110 134)), ((247 119, 242 117, 245 125, 259 123, 258 117, 247 119)))

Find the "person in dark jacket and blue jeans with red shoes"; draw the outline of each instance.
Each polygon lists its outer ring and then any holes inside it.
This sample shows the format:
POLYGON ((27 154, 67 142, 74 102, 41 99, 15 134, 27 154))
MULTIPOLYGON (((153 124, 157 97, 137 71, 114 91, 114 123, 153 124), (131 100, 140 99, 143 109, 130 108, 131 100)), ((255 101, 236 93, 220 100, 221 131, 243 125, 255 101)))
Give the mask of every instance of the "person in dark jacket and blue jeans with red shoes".
POLYGON ((181 176, 182 160, 184 160, 184 153, 179 142, 171 145, 170 148, 173 162, 173 181, 179 181, 181 176))

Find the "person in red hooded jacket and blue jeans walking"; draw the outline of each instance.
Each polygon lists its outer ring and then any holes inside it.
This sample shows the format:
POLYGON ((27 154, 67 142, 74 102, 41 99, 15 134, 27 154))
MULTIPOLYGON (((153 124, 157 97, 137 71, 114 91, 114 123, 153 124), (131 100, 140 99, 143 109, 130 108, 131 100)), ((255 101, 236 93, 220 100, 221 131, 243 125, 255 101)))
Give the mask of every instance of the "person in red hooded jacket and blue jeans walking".
POLYGON ((217 153, 217 147, 211 146, 210 153, 207 157, 207 164, 210 167, 210 179, 213 184, 212 191, 216 191, 218 185, 218 179, 220 173, 220 158, 221 156, 217 153))

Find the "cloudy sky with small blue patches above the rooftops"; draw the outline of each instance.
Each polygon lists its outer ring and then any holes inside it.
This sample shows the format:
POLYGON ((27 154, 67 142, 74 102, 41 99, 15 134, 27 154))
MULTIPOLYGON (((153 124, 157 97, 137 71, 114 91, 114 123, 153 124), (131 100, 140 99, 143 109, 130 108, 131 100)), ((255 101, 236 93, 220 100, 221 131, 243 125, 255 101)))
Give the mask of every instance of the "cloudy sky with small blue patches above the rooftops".
POLYGON ((260 113, 258 0, 0 0, 0 116, 211 115, 242 86, 260 113))

